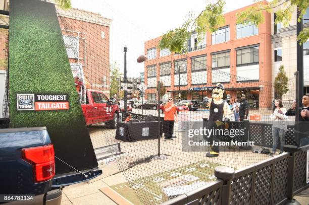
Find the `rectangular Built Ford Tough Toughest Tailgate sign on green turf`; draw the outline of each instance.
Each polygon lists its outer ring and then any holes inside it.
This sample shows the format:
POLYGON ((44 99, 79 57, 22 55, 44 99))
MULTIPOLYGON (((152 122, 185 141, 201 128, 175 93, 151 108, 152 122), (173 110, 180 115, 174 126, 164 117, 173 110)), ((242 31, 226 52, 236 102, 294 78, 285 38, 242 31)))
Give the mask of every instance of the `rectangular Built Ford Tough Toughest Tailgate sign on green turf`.
POLYGON ((67 94, 17 94, 17 110, 68 110, 67 94))

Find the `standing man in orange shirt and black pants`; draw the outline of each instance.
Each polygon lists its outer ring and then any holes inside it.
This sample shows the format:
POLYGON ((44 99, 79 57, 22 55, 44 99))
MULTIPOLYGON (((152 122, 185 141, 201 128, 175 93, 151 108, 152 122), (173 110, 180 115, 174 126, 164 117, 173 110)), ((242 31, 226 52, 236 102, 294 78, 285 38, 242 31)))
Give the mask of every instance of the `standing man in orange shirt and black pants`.
POLYGON ((164 139, 173 140, 172 134, 174 130, 174 121, 177 122, 176 105, 173 98, 169 98, 169 102, 164 106, 164 139))

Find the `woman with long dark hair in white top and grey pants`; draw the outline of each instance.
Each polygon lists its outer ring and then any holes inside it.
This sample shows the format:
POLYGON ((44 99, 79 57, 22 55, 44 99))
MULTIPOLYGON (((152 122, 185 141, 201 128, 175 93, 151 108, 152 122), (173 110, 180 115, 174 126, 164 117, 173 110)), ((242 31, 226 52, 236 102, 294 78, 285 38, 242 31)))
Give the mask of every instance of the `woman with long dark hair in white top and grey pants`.
POLYGON ((286 109, 282 105, 280 99, 275 100, 275 106, 273 108, 273 113, 271 115, 271 120, 273 121, 272 133, 273 133, 273 152, 276 152, 278 137, 280 139, 280 153, 283 152, 283 145, 285 140, 285 132, 287 130, 286 120, 288 117, 285 115, 286 109))

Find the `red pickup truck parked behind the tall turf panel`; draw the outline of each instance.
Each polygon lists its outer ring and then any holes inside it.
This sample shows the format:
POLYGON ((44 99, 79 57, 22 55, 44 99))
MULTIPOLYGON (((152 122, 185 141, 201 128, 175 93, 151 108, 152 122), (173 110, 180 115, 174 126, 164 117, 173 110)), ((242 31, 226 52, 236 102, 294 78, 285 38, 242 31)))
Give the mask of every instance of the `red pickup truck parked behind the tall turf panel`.
POLYGON ((116 129, 119 117, 119 107, 112 102, 101 91, 86 90, 86 103, 81 104, 87 125, 107 123, 116 129))

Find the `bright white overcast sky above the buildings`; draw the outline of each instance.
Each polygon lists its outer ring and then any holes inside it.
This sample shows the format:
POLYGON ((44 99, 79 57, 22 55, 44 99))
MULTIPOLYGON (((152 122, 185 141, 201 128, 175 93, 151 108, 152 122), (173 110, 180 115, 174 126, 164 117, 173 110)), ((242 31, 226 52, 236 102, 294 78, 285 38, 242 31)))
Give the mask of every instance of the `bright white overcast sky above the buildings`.
MULTIPOLYGON (((252 0, 226 0, 224 13, 252 4, 252 0)), ((139 77, 144 63, 137 63, 144 54, 144 42, 179 27, 188 12, 197 16, 207 4, 205 0, 72 0, 72 7, 99 13, 112 19, 110 28, 110 63, 124 72, 124 51, 127 46, 127 76, 139 77)))

